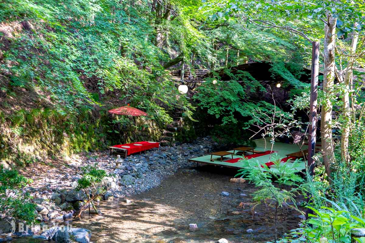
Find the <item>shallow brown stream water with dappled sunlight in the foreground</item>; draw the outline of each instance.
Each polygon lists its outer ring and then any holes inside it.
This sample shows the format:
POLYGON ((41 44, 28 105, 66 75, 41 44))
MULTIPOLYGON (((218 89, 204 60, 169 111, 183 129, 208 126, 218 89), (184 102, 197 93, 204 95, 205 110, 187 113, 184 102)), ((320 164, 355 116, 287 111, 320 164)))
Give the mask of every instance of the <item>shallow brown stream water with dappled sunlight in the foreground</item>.
MULTIPOLYGON (((273 209, 260 204, 252 211, 249 204, 255 188, 248 183, 230 183, 235 173, 235 170, 211 166, 198 167, 197 171, 182 170, 162 181, 159 187, 128 197, 131 203, 126 203, 125 198, 100 202, 97 207, 102 216, 84 214, 72 222, 72 227, 91 230, 94 243, 203 243, 220 238, 232 243, 273 240, 273 209), (230 195, 221 196, 222 191, 230 195), (239 207, 241 202, 243 207, 239 207), (190 230, 191 223, 199 228, 190 230), (247 233, 248 229, 253 232, 247 233)), ((298 227, 297 211, 284 208, 278 215, 279 237, 298 227)))

